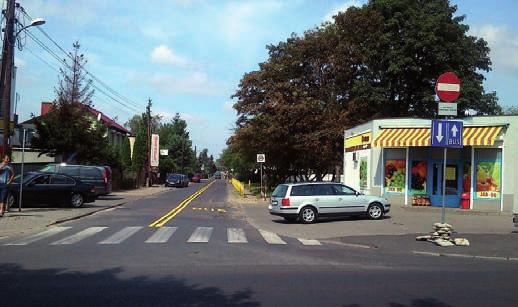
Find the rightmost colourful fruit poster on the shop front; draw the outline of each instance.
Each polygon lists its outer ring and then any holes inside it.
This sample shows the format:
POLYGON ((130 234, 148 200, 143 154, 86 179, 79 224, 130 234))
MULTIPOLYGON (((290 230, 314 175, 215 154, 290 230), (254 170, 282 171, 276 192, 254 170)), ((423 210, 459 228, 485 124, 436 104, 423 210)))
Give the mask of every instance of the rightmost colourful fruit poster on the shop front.
POLYGON ((502 162, 477 163, 477 198, 500 198, 502 162))

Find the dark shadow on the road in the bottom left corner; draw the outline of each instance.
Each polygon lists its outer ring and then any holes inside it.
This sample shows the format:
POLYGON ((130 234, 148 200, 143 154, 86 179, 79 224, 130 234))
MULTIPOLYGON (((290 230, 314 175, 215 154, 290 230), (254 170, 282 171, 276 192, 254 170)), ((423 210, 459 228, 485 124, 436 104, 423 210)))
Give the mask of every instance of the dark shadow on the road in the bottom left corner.
POLYGON ((26 270, 0 265, 2 306, 259 306, 252 291, 226 295, 220 288, 189 285, 175 277, 118 278, 121 268, 94 273, 26 270))

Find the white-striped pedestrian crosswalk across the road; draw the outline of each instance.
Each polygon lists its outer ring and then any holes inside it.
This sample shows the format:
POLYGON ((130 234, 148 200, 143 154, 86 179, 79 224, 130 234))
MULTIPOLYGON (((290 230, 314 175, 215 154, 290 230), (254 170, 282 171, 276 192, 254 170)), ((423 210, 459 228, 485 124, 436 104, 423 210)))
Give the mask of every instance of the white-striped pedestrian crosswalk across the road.
MULTIPOLYGON (((89 242, 95 240, 95 243, 100 245, 115 245, 122 244, 125 241, 135 240, 134 237, 142 239, 142 236, 145 236, 146 239, 144 243, 146 244, 164 244, 173 241, 173 239, 175 243, 183 241, 184 243, 188 244, 199 244, 214 242, 222 239, 221 236, 214 238, 214 233, 216 233, 214 227, 196 227, 194 229, 188 229, 187 236, 185 236, 186 232, 182 231, 182 234, 176 235, 177 238, 175 238, 173 235, 178 234, 180 232, 178 230, 179 227, 161 227, 158 229, 147 228, 143 226, 128 226, 123 227, 122 229, 106 226, 94 226, 85 229, 74 229, 72 227, 53 227, 35 235, 5 243, 4 245, 23 246, 36 242, 45 242, 49 245, 59 246, 77 244, 83 241, 87 241, 87 239, 89 242), (144 234, 136 236, 138 233, 144 234), (180 236, 184 237, 181 238, 180 236)), ((268 245, 287 245, 288 243, 286 241, 289 241, 290 244, 300 244, 303 246, 322 245, 320 241, 313 239, 283 239, 276 233, 262 229, 258 229, 257 231, 254 229, 247 229, 245 232, 245 229, 243 228, 226 228, 226 232, 220 232, 220 234, 221 233, 226 233, 225 243, 229 244, 250 243, 249 237, 251 237, 254 241, 259 240, 261 243, 266 243, 268 245), (257 233, 259 235, 257 235, 257 233)))

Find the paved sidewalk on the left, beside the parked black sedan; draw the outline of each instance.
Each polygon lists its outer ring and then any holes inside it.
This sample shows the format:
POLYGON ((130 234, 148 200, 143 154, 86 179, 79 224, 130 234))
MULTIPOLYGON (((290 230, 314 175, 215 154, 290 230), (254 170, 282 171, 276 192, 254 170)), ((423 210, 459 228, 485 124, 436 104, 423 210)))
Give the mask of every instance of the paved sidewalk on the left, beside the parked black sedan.
POLYGON ((100 196, 94 203, 84 204, 83 207, 77 209, 67 207, 22 208, 22 211, 19 212, 18 206, 15 206, 0 218, 0 240, 36 233, 49 225, 78 219, 169 190, 170 188, 163 186, 154 186, 117 191, 107 196, 100 196))

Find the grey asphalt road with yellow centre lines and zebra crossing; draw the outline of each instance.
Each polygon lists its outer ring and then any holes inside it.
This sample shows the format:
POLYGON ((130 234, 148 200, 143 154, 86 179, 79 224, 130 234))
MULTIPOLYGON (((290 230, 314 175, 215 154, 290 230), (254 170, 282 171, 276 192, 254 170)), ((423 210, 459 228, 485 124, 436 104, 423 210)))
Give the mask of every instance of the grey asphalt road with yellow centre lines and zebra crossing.
POLYGON ((183 202, 207 184, 3 242, 0 305, 518 305, 518 262, 264 233, 227 202, 222 180, 183 202))

